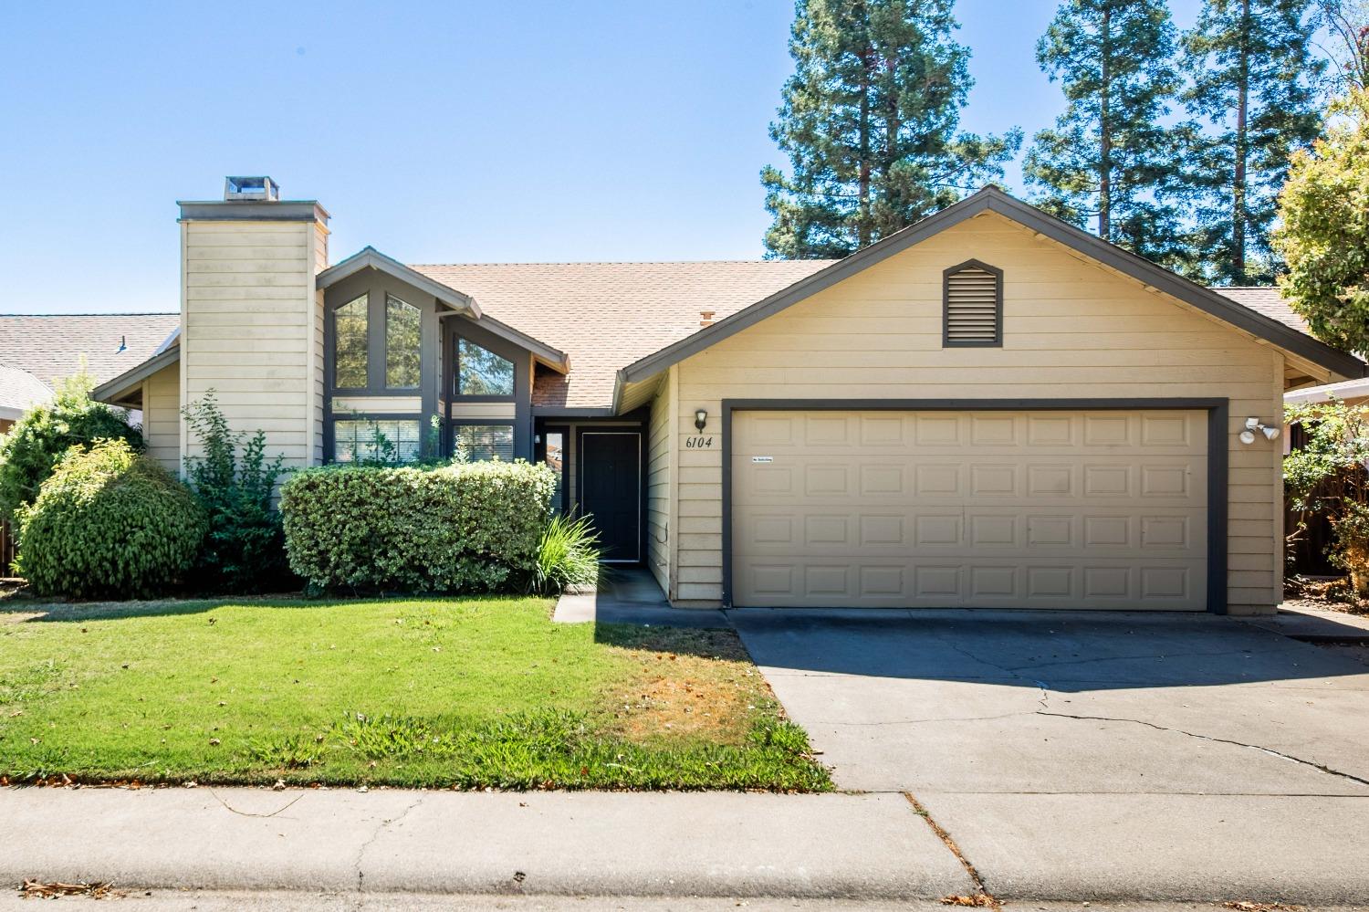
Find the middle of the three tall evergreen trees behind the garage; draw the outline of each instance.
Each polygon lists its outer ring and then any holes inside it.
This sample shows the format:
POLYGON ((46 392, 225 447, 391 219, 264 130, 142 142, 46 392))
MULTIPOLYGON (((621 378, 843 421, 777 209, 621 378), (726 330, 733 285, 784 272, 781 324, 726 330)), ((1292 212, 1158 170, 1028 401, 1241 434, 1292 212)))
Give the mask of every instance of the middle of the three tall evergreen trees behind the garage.
POLYGON ((1065 0, 1036 62, 1068 104, 1035 136, 1023 171, 1038 205, 1179 267, 1187 127, 1165 123, 1181 86, 1175 41, 1165 0, 1065 0))

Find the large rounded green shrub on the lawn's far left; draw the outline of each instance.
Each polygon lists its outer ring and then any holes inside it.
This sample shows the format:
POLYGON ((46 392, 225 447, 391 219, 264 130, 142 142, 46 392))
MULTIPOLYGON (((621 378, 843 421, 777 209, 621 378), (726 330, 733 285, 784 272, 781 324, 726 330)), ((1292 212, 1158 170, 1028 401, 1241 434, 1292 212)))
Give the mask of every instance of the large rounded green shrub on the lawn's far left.
POLYGON ((18 518, 19 571, 38 594, 74 598, 164 592, 205 531, 190 490, 123 440, 74 446, 18 518))

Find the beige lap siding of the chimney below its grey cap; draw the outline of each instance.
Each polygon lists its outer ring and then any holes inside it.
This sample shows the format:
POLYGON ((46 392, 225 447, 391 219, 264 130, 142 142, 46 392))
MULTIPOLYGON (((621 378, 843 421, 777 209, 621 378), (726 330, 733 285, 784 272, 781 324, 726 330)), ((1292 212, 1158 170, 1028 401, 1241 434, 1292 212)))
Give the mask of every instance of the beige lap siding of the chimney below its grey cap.
MULTIPOLYGON (((322 433, 319 299, 326 244, 312 222, 186 220, 181 404, 215 390, 230 426, 266 431, 286 466, 316 461, 322 433)), ((182 453, 199 445, 181 425, 182 453)))

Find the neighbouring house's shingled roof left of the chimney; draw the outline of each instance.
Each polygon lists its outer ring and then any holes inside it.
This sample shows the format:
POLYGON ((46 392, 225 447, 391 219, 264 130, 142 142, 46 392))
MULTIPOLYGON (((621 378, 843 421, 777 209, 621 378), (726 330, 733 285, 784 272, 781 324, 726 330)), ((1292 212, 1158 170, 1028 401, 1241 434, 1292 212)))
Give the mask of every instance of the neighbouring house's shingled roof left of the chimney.
POLYGON ((0 364, 51 388, 85 356, 100 385, 148 360, 179 326, 179 314, 0 315, 0 364))

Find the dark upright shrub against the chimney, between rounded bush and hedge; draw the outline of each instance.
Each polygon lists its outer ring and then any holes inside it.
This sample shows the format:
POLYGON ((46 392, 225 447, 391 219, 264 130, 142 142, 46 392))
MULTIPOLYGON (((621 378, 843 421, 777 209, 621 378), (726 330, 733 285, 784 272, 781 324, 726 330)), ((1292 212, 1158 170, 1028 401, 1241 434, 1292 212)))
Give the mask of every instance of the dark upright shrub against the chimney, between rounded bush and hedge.
POLYGON ((204 456, 186 457, 186 478, 209 520, 196 563, 196 583, 223 592, 287 585, 285 531, 281 512, 271 505, 285 457, 266 457, 266 434, 260 430, 242 444, 245 435, 229 430, 212 390, 186 405, 183 414, 204 451, 204 456))

